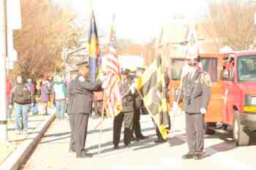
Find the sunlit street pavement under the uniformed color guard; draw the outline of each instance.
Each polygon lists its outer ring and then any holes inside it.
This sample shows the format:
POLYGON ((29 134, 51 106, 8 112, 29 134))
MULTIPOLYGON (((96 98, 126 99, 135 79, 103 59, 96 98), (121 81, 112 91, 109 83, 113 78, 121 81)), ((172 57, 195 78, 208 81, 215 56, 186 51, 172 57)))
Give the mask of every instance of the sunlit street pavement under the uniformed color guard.
MULTIPOLYGON (((181 155, 187 153, 187 139, 184 130, 184 116, 176 117, 174 133, 163 144, 154 144, 156 139, 151 117, 143 115, 140 123, 143 134, 150 138, 140 142, 132 142, 132 147, 113 150, 113 122, 108 119, 102 124, 102 147, 98 155, 99 129, 94 127, 99 119, 89 120, 89 135, 86 148, 94 153, 94 158, 75 158, 69 152, 68 120, 55 120, 37 146, 23 170, 167 170, 167 169, 207 169, 207 170, 255 170, 256 139, 247 147, 235 147, 232 133, 218 130, 213 136, 206 136, 205 148, 208 157, 200 161, 182 160, 181 155)), ((100 128, 100 126, 99 126, 100 128)), ((256 136, 256 135, 255 135, 256 136)), ((123 135, 121 136, 123 139, 123 135)))

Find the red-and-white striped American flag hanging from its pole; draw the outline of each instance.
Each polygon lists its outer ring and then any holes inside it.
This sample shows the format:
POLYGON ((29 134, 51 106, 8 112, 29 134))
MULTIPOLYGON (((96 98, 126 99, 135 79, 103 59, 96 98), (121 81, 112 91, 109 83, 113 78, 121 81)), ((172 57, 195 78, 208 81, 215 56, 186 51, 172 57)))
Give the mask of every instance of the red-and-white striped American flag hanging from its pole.
POLYGON ((108 55, 106 59, 106 73, 108 77, 105 82, 106 88, 104 98, 105 109, 109 117, 115 117, 122 110, 122 98, 120 92, 120 65, 118 62, 116 48, 116 34, 112 23, 110 30, 110 42, 108 45, 108 55))

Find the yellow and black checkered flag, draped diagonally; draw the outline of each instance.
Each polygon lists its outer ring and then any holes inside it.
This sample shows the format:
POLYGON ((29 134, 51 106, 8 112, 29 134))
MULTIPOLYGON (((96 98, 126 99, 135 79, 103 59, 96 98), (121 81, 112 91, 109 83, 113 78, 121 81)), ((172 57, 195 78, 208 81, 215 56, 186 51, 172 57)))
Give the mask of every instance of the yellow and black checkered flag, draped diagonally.
POLYGON ((154 122, 162 134, 163 139, 167 139, 168 134, 168 104, 166 99, 165 74, 162 58, 157 58, 149 66, 144 74, 136 80, 136 86, 146 109, 153 117, 154 122))

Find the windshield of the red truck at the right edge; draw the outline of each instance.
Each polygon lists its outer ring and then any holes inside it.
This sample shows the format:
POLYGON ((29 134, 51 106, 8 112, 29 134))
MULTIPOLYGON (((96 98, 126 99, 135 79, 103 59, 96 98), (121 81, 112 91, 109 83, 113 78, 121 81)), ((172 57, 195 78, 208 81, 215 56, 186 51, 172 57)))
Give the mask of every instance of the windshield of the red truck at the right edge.
POLYGON ((256 56, 247 55, 238 58, 238 81, 255 82, 256 81, 256 56))

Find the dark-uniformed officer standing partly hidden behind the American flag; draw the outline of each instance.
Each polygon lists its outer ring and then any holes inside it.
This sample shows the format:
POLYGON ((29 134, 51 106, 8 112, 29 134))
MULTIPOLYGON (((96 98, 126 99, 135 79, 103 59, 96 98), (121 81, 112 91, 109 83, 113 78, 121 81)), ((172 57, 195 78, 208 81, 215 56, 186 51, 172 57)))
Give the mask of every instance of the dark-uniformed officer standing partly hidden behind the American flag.
POLYGON ((121 96, 123 109, 113 122, 113 144, 114 149, 118 149, 120 142, 121 126, 124 121, 124 145, 129 147, 132 139, 132 125, 134 116, 134 96, 135 87, 132 85, 132 80, 129 79, 129 70, 126 69, 121 75, 121 96))

